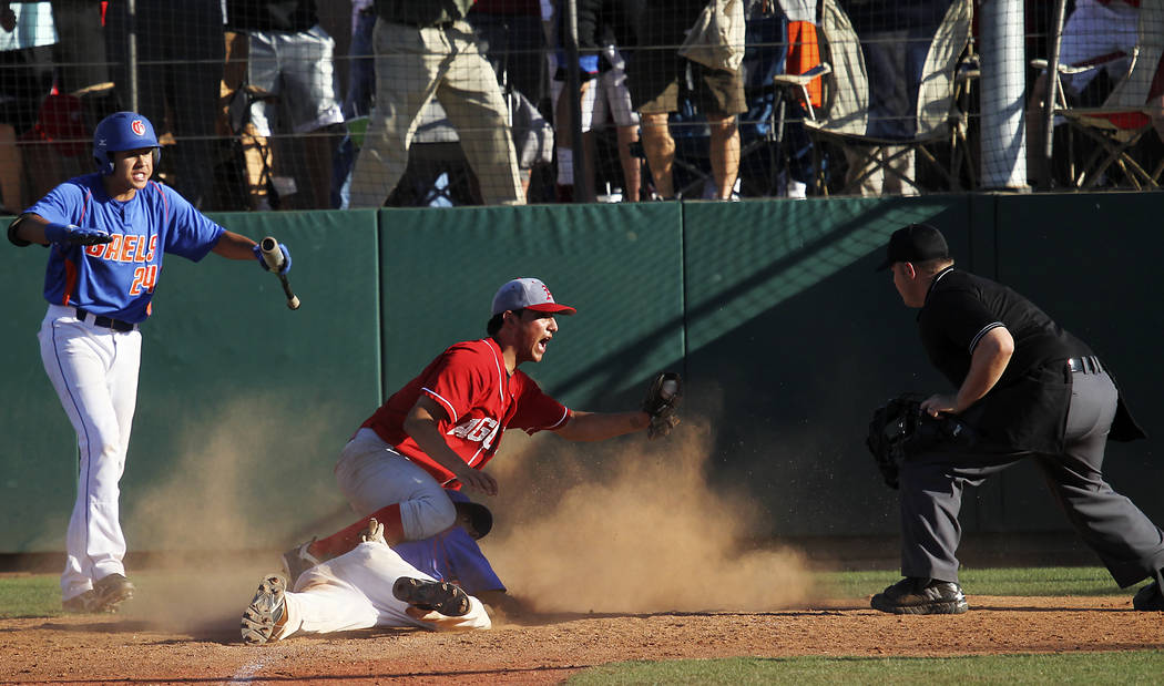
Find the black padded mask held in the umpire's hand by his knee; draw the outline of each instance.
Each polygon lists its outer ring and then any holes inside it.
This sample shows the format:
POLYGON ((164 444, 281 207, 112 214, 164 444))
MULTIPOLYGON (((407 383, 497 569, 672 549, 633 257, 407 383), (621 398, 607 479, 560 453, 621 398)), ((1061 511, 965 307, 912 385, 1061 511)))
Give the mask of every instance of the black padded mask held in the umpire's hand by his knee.
POLYGON ((938 444, 968 448, 975 442, 968 424, 953 415, 930 416, 922 412, 922 400, 913 393, 876 408, 865 437, 865 445, 890 488, 897 488, 897 473, 909 455, 938 444))

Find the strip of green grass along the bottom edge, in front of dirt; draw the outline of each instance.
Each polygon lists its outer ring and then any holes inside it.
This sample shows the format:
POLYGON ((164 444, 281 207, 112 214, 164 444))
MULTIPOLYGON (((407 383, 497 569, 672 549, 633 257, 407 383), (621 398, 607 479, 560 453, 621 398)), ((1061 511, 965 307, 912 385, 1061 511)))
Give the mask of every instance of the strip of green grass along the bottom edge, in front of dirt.
POLYGON ((1159 684, 1164 651, 949 658, 732 658, 612 663, 588 684, 1159 684))

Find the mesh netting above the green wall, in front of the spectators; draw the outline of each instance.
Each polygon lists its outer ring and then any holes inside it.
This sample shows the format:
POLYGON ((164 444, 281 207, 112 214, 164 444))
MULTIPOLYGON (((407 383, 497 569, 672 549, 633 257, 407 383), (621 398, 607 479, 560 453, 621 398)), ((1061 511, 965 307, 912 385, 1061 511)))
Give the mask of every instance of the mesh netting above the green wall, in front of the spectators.
POLYGON ((1164 0, 6 5, 8 214, 123 109, 206 210, 1145 188, 1164 162, 1164 0))

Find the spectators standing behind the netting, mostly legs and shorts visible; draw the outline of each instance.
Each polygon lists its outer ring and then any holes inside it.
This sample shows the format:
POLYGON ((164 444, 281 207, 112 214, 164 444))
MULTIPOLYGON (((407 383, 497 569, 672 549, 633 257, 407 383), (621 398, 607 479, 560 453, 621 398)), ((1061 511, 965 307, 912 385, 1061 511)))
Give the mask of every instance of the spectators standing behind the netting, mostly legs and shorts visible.
MULTIPOLYGON (((436 203, 405 198, 405 178, 457 203, 783 194, 776 174, 796 170, 774 169, 771 127, 761 172, 740 134, 764 130, 746 117, 771 78, 750 73, 771 65, 680 56, 708 3, 575 0, 568 31, 565 0, 135 0, 135 16, 128 0, 0 2, 0 213, 90 171, 86 131, 120 109, 155 123, 158 176, 207 210, 436 203)), ((743 7, 750 27, 780 14, 743 7)))

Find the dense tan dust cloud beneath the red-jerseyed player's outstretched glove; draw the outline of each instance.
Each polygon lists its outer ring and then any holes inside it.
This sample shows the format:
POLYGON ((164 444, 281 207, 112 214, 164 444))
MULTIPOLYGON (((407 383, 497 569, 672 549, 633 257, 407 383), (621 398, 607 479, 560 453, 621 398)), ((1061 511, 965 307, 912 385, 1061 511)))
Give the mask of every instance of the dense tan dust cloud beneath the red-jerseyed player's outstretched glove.
POLYGON ((596 613, 762 612, 807 599, 797 551, 739 550, 764 529, 761 513, 743 492, 709 486, 711 436, 695 423, 666 440, 619 440, 597 460, 597 444, 506 435, 490 464, 502 493, 485 499, 502 530, 482 549, 510 593, 540 612, 596 613))

